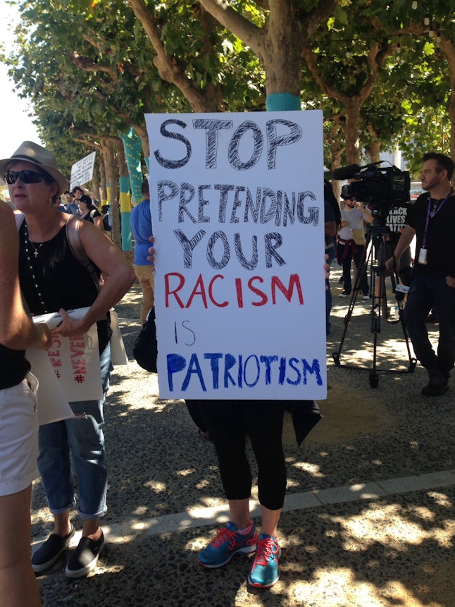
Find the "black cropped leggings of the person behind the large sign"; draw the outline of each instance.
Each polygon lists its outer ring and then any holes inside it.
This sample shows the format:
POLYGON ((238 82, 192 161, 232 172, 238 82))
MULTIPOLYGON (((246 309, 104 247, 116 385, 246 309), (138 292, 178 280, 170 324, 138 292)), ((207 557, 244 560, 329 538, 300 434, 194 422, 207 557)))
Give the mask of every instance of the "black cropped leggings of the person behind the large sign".
POLYGON ((228 500, 251 496, 251 470, 245 452, 249 434, 258 463, 259 503, 269 510, 280 510, 286 493, 283 404, 277 400, 199 400, 198 404, 216 448, 228 500))

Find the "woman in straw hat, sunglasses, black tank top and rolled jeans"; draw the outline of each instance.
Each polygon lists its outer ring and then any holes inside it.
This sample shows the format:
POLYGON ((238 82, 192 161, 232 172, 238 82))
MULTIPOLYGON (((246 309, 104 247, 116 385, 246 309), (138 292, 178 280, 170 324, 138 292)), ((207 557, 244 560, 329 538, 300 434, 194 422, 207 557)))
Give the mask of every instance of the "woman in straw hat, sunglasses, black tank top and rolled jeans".
MULTIPOLYGON (((96 288, 92 274, 77 260, 68 243, 66 223, 72 216, 52 204, 68 183, 54 155, 44 147, 23 142, 11 158, 0 160, 0 174, 8 184, 11 202, 25 216, 19 228, 19 276, 27 305, 32 314, 60 312, 62 321, 51 331, 54 335, 81 335, 96 323, 105 396, 111 372, 108 310, 127 292, 135 274, 111 240, 93 224, 81 221, 82 247, 96 266, 96 273, 104 276, 103 288, 96 288), (68 309, 82 307, 89 309, 80 320, 66 314, 68 309)), ((38 468, 54 515, 54 533, 32 557, 35 572, 54 565, 75 531, 70 522, 70 509, 75 504, 70 453, 84 526, 66 575, 82 577, 96 566, 104 546, 100 517, 106 513, 103 405, 104 397, 71 402, 75 417, 39 429, 38 468)))

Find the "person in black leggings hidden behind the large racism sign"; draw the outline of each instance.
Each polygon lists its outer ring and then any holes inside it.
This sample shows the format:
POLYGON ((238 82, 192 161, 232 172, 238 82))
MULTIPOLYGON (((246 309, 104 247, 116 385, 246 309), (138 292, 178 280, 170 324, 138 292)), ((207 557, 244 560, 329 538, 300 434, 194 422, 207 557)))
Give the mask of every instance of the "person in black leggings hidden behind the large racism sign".
MULTIPOLYGON (((149 239, 154 243, 154 237, 149 239)), ((149 248, 154 264, 154 247, 149 248)), ((325 255, 325 278, 330 266, 325 255)), ((325 287, 328 288, 327 286, 325 287)), ((280 579, 278 523, 285 501, 287 474, 282 448, 285 410, 292 412, 299 445, 321 418, 318 403, 297 400, 189 400, 197 409, 216 449, 223 489, 228 498, 230 520, 197 559, 208 569, 227 565, 235 554, 255 552, 248 582, 256 588, 270 588, 280 579), (261 504, 261 534, 251 520, 251 469, 245 451, 247 434, 258 464, 258 498, 261 504)))

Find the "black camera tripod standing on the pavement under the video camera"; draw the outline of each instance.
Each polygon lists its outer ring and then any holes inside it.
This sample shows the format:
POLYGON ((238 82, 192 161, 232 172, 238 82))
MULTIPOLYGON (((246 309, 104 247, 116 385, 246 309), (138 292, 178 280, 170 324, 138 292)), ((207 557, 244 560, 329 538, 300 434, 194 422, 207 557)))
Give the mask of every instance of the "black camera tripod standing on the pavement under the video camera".
MULTIPOLYGON (((370 372, 370 386, 372 388, 378 387, 379 381, 379 371, 377 365, 377 350, 378 350, 378 333, 381 332, 381 317, 386 317, 387 315, 387 295, 385 292, 385 265, 377 265, 375 264, 375 259, 373 255, 373 239, 377 237, 383 245, 382 251, 382 262, 385 263, 385 259, 389 259, 393 255, 392 244, 387 239, 387 234, 389 233, 389 228, 386 227, 378 227, 371 226, 368 229, 368 235, 366 238, 366 245, 363 249, 363 255, 361 257, 361 263, 359 264, 359 269, 357 271, 356 280, 354 281, 354 288, 352 290, 351 301, 349 302, 348 311, 346 317, 344 317, 344 331, 342 335, 342 339, 339 343, 339 348, 337 352, 332 353, 333 360, 337 367, 347 367, 350 369, 368 369, 370 372), (368 257, 367 257, 368 253, 368 257), (359 295, 359 288, 361 285, 361 276, 363 272, 369 274, 370 276, 370 294, 372 294, 371 299, 371 333, 373 333, 373 364, 369 369, 368 367, 354 367, 349 366, 347 364, 341 364, 339 362, 339 357, 342 352, 344 339, 346 338, 347 329, 349 327, 349 323, 351 321, 352 313, 354 312, 354 306, 356 305, 356 299, 359 295), (376 295, 376 284, 380 285, 380 295, 376 295)), ((401 329, 403 331, 404 341, 406 343, 406 349, 408 352, 409 358, 409 367, 405 370, 401 369, 381 369, 380 372, 391 372, 391 373, 412 373, 416 367, 417 360, 412 357, 411 349, 409 347, 409 336, 406 331, 406 326, 404 324, 403 318, 403 310, 404 310, 404 293, 397 291, 397 284, 399 283, 399 276, 397 271, 393 271, 390 274, 390 280, 392 282, 392 292, 395 295, 395 300, 397 300, 398 305, 398 319, 395 321, 401 324, 401 329)))

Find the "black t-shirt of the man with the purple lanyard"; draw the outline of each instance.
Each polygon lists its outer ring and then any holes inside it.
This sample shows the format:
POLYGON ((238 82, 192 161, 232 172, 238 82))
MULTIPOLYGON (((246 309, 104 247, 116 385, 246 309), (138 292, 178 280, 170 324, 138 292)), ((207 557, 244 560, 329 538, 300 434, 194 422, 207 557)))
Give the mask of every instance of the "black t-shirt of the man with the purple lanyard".
MULTIPOLYGON (((428 214, 428 192, 409 207, 406 223, 416 230, 416 263, 414 271, 422 274, 455 275, 455 194, 451 195, 434 217, 428 219, 426 238, 427 264, 419 264, 423 233, 428 214)), ((442 201, 438 201, 439 203, 442 201)), ((437 205, 438 206, 438 205, 437 205)), ((431 205, 432 207, 432 205, 431 205)))

